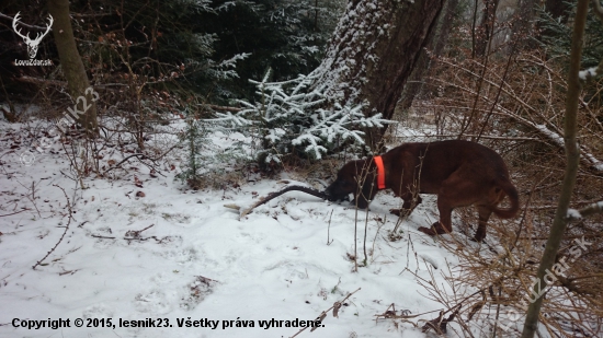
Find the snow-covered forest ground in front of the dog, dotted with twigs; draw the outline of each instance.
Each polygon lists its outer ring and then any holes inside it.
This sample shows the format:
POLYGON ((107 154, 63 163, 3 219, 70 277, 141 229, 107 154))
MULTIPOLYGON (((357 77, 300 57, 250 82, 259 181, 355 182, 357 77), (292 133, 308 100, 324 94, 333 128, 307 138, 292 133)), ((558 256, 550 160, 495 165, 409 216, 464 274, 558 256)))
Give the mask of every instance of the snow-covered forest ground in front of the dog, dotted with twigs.
MULTIPOLYGON (((456 263, 437 241, 417 231, 435 221, 433 198, 424 198, 405 221, 402 238, 389 242, 387 231, 396 219, 388 210, 400 200, 380 193, 368 212, 368 265, 353 272, 349 256, 354 254, 356 211, 346 202, 288 193, 239 220, 224 205, 249 206, 285 184, 261 179, 225 190, 184 190, 173 179, 177 171, 168 167, 167 177, 151 177, 137 161, 117 179, 88 177, 88 188, 73 193, 61 152, 36 154, 32 165, 22 164, 29 141, 16 143, 15 135, 8 133, 14 128, 0 125, 0 337, 292 337, 300 328, 284 327, 284 320, 314 320, 361 288, 339 318, 330 312, 323 327, 297 337, 410 338, 424 334, 409 324, 376 322, 375 315, 391 303, 412 314, 442 308, 408 271, 429 280, 429 269, 436 268, 442 283, 440 271, 456 263), (75 201, 72 221, 60 187, 75 201), (27 211, 19 212, 23 208, 27 211), (61 243, 32 269, 67 224, 61 243), (69 319, 70 327, 13 325, 59 318, 69 319), (84 327, 76 327, 77 318, 84 327), (107 318, 111 327, 100 327, 107 326, 107 318), (167 327, 120 327, 120 320, 124 326, 124 320, 148 318, 167 327), (260 320, 273 318, 283 327, 260 327, 260 320), (216 328, 180 327, 189 319, 219 322, 216 328), (243 323, 254 327, 238 327, 243 323)), ((120 160, 107 154, 100 161, 111 159, 120 160)), ((303 184, 287 173, 281 178, 303 184)), ((365 218, 359 211, 360 261, 365 218)))

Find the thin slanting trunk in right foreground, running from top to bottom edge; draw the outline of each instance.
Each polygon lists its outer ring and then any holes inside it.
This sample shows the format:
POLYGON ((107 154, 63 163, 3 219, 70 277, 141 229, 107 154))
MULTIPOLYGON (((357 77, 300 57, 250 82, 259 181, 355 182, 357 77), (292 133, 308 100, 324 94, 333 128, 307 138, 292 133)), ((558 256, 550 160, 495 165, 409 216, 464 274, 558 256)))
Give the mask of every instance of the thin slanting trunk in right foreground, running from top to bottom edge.
MULTIPOLYGON (((566 143, 566 155, 568 162, 561 185, 561 194, 559 196, 557 212, 555 213, 555 220, 553 221, 550 234, 546 242, 543 259, 541 260, 541 266, 538 267, 538 273, 536 276, 539 283, 534 285, 535 294, 541 294, 542 289, 546 287, 544 276, 547 271, 550 271, 550 268, 555 264, 555 258, 557 257, 564 233, 566 232, 569 202, 571 199, 571 193, 573 191, 573 186, 576 185, 576 175, 578 173, 578 164, 580 161, 580 151, 576 141, 578 101, 581 90, 578 72, 580 71, 580 59, 582 56, 582 44, 584 39, 584 27, 587 25, 588 10, 589 0, 578 0, 576 20, 573 23, 573 34, 571 38, 568 93, 566 98, 566 120, 564 127, 564 139, 566 143)), ((538 317, 544 296, 545 294, 538 296, 536 301, 527 307, 522 338, 533 338, 534 334, 538 329, 538 317)))

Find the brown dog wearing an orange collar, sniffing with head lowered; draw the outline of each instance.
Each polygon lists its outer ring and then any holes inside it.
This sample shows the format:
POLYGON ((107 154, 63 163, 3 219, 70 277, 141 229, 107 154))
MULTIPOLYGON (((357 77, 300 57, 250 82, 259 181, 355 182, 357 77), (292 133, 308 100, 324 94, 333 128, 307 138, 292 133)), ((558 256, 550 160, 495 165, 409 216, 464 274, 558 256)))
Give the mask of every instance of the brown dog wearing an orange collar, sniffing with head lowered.
MULTIPOLYGON (((486 226, 492 212, 503 219, 517 213, 517 190, 509 179, 507 165, 499 154, 487 147, 462 140, 406 143, 386 152, 382 159, 385 188, 403 199, 402 209, 392 209, 391 213, 400 215, 412 212, 421 202, 418 194, 437 195, 440 221, 431 229, 419 228, 428 235, 452 232, 452 211, 457 207, 476 205, 479 225, 474 240, 478 242, 486 237, 486 226), (504 196, 509 196, 511 208, 498 209, 504 196)), ((369 159, 343 165, 325 194, 331 201, 354 194, 353 203, 364 209, 377 190, 377 166, 369 159)))

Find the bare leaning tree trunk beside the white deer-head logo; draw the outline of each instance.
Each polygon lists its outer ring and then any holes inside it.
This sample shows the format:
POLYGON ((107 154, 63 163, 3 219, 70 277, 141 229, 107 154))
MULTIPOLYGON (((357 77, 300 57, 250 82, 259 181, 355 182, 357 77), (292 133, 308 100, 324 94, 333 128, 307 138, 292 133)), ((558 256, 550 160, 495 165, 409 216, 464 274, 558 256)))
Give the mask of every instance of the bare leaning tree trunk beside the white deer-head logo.
POLYGON ((67 79, 69 95, 76 104, 73 116, 89 135, 98 135, 96 104, 86 69, 76 46, 73 30, 69 18, 69 0, 48 0, 48 12, 55 19, 53 34, 57 45, 62 73, 67 79), (82 97, 82 98, 80 98, 82 97))

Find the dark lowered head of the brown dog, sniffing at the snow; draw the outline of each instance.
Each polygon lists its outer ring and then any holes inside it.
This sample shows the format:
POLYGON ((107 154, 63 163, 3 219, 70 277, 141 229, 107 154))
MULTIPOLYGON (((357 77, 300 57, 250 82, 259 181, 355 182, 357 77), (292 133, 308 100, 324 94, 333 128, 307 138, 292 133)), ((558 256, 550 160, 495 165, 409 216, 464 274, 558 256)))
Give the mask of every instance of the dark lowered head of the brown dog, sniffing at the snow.
MULTIPOLYGON (((357 160, 348 162, 337 174, 337 179, 325 190, 330 201, 341 201, 350 195, 354 195, 354 202, 359 208, 366 208, 373 197, 372 186, 375 180, 375 165, 371 160, 357 160), (361 195, 361 198, 359 198, 361 195)), ((376 191, 376 186, 375 186, 376 191)))

